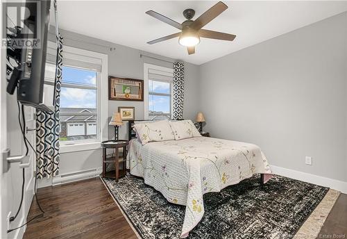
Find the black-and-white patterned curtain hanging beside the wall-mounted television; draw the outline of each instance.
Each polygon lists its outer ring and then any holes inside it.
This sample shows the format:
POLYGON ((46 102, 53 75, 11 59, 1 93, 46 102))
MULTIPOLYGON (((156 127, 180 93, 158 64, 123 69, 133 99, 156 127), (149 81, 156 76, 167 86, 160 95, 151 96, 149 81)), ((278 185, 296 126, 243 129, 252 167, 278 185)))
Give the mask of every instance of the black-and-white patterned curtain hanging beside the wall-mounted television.
POLYGON ((59 106, 62 81, 62 38, 57 39, 56 108, 53 113, 36 111, 37 179, 59 174, 59 106))

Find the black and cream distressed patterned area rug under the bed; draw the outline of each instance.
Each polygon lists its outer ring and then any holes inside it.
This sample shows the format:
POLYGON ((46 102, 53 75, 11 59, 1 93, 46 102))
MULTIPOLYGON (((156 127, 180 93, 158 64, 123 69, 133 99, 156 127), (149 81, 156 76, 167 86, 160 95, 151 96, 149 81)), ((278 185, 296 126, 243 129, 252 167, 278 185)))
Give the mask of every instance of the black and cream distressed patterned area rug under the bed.
MULTIPOLYGON (((144 180, 128 175, 105 185, 144 239, 179 238, 185 206, 169 203, 144 180)), ((329 188, 283 176, 260 176, 203 195, 205 215, 189 238, 293 238, 329 188)))

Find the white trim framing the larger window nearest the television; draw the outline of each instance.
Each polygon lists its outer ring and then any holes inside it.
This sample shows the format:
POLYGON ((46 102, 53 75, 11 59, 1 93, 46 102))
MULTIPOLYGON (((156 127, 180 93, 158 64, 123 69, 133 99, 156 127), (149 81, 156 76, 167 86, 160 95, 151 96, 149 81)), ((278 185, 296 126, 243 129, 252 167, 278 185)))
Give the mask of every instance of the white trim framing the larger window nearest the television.
MULTIPOLYGON (((96 142, 76 142, 64 145, 64 142, 60 142, 60 154, 73 152, 73 151, 84 151, 92 149, 101 149, 101 142, 108 139, 107 132, 107 118, 108 118, 108 55, 87 51, 83 49, 78 49, 76 47, 63 47, 64 53, 79 55, 79 57, 87 56, 88 58, 95 58, 96 60, 101 60, 101 72, 98 81, 98 129, 99 140, 96 142)), ((99 74, 98 74, 99 75, 99 74)))

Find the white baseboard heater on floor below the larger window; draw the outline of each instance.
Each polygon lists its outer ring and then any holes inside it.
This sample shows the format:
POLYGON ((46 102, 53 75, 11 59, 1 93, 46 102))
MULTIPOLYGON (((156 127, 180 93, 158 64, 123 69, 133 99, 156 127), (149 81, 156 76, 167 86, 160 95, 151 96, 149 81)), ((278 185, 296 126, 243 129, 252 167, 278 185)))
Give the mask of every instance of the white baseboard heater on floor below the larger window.
POLYGON ((101 167, 94 168, 92 170, 82 170, 82 171, 76 171, 76 172, 70 172, 67 174, 60 174, 58 176, 53 177, 53 186, 64 184, 64 183, 71 183, 74 181, 80 181, 83 179, 91 179, 96 176, 99 176, 102 172, 101 167))

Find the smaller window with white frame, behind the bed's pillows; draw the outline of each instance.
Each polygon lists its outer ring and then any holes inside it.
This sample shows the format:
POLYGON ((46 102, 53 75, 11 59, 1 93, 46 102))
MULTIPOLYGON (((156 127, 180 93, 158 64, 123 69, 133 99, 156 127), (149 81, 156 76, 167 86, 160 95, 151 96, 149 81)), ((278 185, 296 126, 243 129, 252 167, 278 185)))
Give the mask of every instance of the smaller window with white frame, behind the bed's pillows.
POLYGON ((173 69, 145 64, 144 71, 145 117, 171 118, 173 69))

